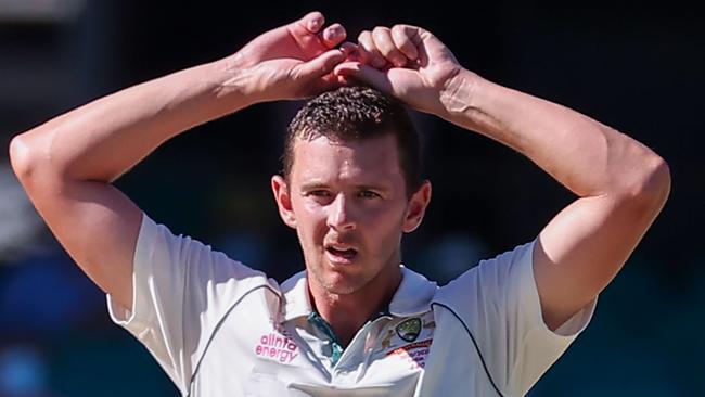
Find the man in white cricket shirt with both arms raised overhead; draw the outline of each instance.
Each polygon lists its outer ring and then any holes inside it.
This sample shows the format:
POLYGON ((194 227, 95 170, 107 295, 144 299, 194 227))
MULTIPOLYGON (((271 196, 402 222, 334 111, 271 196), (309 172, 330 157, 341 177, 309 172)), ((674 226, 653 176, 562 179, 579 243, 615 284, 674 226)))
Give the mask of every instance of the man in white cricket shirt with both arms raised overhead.
MULTIPOLYGON (((588 323, 669 191, 651 150, 483 79, 431 33, 343 42, 313 12, 226 59, 74 110, 11 143, 33 203, 113 319, 190 396, 521 396, 588 323), (578 195, 538 238, 437 287, 400 266, 431 198, 395 101, 528 156, 578 195), (331 91, 332 90, 332 91, 331 91), (167 139, 254 103, 326 92, 271 180, 306 272, 281 286, 157 226, 111 182, 167 139)), ((443 264, 438 264, 443 266, 443 264)))

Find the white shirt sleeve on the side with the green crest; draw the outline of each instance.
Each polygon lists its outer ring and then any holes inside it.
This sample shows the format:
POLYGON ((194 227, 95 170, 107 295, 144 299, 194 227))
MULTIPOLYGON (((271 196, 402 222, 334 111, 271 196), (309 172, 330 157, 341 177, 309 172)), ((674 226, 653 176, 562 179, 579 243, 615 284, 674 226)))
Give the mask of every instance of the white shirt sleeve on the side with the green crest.
POLYGON ((483 260, 436 295, 473 333, 493 382, 511 396, 525 395, 561 357, 590 322, 597 303, 551 331, 541 315, 533 248, 528 243, 483 260))

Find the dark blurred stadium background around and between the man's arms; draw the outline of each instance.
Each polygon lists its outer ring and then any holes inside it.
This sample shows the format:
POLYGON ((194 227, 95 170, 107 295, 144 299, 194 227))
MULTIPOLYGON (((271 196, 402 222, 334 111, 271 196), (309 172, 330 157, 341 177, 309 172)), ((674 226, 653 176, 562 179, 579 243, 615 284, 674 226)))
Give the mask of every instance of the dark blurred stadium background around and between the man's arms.
MULTIPOLYGON (((10 138, 127 86, 225 56, 323 11, 351 38, 426 27, 461 63, 625 131, 670 164, 669 202, 584 335, 531 390, 705 395, 705 18, 688 3, 0 0, 0 396, 176 396, 110 323, 10 170, 10 138)), ((261 104, 159 149, 117 184, 154 219, 282 280, 302 267, 268 177, 297 103, 261 104)), ((533 239, 572 196, 525 158, 425 115, 434 202, 405 262, 441 282, 533 239)))

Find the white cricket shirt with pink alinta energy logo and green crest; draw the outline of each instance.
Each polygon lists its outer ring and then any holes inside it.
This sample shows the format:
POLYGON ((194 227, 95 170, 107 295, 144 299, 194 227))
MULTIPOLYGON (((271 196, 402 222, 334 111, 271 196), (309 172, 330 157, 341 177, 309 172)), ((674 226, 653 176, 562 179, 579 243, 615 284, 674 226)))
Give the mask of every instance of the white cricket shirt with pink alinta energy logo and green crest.
POLYGON ((522 396, 594 310, 593 302, 550 331, 531 247, 441 287, 402 267, 388 312, 341 351, 312 312, 305 272, 280 286, 144 215, 133 307, 108 296, 108 310, 183 396, 522 396))

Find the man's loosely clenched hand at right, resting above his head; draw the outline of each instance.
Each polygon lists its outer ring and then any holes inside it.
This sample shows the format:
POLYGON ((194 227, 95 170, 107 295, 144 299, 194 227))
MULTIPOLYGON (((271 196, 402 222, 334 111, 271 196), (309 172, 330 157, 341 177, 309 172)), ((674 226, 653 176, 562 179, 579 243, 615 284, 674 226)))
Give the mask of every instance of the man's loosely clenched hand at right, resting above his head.
MULTIPOLYGON (((350 51, 348 46, 344 46, 350 51)), ((377 26, 358 37, 347 62, 335 67, 344 79, 360 80, 410 106, 444 114, 440 95, 462 71, 450 50, 431 31, 411 25, 377 26)))

